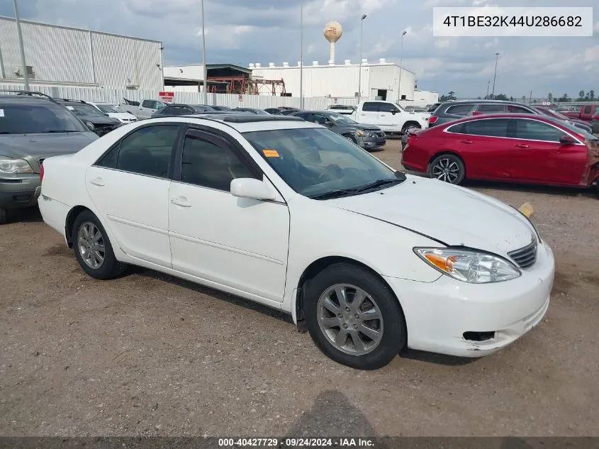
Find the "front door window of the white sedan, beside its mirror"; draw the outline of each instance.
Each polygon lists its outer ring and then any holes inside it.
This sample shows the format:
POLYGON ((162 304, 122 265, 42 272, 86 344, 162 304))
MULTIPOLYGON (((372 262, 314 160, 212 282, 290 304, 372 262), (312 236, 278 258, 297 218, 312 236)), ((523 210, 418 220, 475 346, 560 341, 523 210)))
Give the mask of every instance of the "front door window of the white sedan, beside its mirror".
POLYGON ((233 150, 211 140, 196 133, 186 135, 181 182, 230 192, 233 179, 255 177, 233 150))

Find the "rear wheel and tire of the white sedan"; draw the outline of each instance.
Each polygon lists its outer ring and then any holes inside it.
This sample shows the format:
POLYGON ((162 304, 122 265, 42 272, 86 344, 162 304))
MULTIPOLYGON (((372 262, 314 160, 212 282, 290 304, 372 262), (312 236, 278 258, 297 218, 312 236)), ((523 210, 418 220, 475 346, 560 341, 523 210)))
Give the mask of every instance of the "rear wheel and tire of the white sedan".
POLYGON ((87 275, 111 279, 125 271, 127 265, 116 260, 108 234, 91 211, 82 211, 75 218, 71 235, 75 257, 87 275))

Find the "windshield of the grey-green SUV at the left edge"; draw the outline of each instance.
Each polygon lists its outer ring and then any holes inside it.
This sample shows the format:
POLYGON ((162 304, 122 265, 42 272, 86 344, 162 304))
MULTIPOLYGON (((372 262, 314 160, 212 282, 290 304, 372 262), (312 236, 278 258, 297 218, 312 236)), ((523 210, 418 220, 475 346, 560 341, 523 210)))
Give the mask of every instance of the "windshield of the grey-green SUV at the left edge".
POLYGON ((0 104, 0 134, 89 131, 72 113, 54 103, 0 104))

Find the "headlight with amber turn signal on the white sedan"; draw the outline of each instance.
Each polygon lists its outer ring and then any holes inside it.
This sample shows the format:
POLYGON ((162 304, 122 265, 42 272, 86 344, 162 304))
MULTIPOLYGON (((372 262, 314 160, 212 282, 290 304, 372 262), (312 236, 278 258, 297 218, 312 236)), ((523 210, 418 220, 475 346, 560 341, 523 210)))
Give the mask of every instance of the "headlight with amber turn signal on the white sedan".
POLYGON ((489 284, 520 277, 522 272, 498 255, 457 248, 414 248, 414 253, 428 265, 470 284, 489 284))

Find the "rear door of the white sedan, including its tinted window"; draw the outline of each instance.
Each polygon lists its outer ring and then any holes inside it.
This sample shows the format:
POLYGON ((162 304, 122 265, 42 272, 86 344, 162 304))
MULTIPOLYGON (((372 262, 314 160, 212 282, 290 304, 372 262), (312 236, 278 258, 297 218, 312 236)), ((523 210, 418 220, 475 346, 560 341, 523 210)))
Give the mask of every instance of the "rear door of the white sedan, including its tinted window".
POLYGON ((171 266, 169 173, 178 124, 138 128, 86 172, 86 187, 103 223, 125 253, 171 266))

